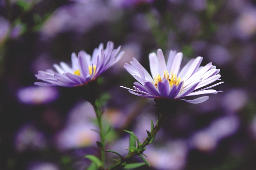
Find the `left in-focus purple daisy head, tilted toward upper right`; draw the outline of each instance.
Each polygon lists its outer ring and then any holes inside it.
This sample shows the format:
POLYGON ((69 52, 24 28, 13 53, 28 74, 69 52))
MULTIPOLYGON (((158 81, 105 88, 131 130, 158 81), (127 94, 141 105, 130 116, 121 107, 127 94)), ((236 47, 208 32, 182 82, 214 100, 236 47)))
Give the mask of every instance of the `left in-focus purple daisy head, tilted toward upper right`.
POLYGON ((57 72, 52 69, 38 71, 35 77, 44 82, 35 82, 34 84, 64 87, 86 85, 88 82, 97 79, 100 74, 118 62, 122 57, 124 52, 121 51, 119 53, 121 46, 114 50, 113 48, 114 43, 108 42, 105 49, 102 43, 99 45, 99 48, 95 48, 92 57, 85 51, 80 51, 78 57, 75 53, 72 53, 72 67, 65 62, 60 62, 60 65, 53 65, 57 72))

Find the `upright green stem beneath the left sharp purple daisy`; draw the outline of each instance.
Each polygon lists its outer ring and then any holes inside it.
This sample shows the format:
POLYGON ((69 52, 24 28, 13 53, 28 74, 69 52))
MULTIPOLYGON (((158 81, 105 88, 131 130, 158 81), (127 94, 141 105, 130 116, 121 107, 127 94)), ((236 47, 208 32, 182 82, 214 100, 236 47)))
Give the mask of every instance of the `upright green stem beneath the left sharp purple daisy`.
POLYGON ((100 142, 102 143, 102 148, 100 148, 100 152, 101 152, 101 161, 102 161, 102 166, 101 166, 101 170, 104 170, 105 168, 105 134, 103 131, 103 127, 102 127, 102 113, 99 110, 99 102, 98 100, 95 100, 95 103, 92 103, 94 111, 96 113, 96 118, 97 118, 97 122, 99 125, 99 136, 100 136, 100 142))

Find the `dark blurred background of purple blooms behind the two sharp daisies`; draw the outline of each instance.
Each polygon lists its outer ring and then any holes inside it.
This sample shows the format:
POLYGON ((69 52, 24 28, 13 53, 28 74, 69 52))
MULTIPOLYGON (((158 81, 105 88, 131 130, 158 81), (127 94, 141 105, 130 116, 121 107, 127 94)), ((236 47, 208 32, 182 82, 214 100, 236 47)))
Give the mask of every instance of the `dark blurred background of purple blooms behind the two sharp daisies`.
MULTIPOLYGON (((204 57, 225 82, 206 102, 180 101, 138 170, 256 169, 255 0, 0 0, 0 169, 85 170, 85 154, 99 156, 95 113, 72 88, 33 85, 38 70, 92 54, 103 42, 125 55, 99 78, 107 149, 125 156, 128 133, 147 137, 157 120, 153 99, 134 96, 123 68, 135 57, 149 71, 148 54, 161 48, 204 57)), ((107 166, 118 158, 107 154, 107 166)), ((139 162, 134 157, 131 162, 139 162)))

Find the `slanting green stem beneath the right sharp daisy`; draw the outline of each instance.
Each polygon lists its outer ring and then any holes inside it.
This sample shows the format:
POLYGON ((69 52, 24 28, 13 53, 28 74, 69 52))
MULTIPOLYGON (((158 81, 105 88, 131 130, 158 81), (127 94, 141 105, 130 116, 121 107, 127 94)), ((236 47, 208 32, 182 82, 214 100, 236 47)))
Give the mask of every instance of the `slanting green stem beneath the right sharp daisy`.
MULTIPOLYGON (((154 129, 151 132, 151 139, 154 139, 154 137, 157 135, 157 132, 163 126, 163 123, 164 123, 166 117, 167 117, 167 114, 160 113, 157 124, 155 125, 154 129)), ((119 159, 115 164, 113 164, 111 167, 107 168, 106 170, 113 170, 114 168, 118 168, 121 166, 121 164, 128 161, 128 159, 131 159, 132 157, 136 156, 137 154, 142 154, 145 150, 145 146, 151 143, 151 139, 148 139, 148 138, 145 139, 145 141, 138 146, 139 152, 128 153, 127 156, 125 156, 123 159, 119 159)))

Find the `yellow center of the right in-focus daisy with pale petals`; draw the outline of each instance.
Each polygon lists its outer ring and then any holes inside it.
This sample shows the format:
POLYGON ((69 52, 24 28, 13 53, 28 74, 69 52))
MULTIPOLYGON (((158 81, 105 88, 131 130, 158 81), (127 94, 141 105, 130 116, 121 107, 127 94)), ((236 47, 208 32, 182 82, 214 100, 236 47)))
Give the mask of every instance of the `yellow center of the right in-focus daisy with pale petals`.
MULTIPOLYGON (((171 71, 171 74, 169 74, 168 71, 163 71, 163 78, 168 79, 169 84, 170 84, 171 87, 173 85, 179 85, 180 80, 181 80, 180 77, 177 78, 177 75, 175 73, 172 73, 172 71, 171 71)), ((162 82, 162 78, 161 78, 160 74, 158 74, 156 77, 154 77, 154 82, 153 83, 157 87, 157 84, 159 82, 162 82)))

